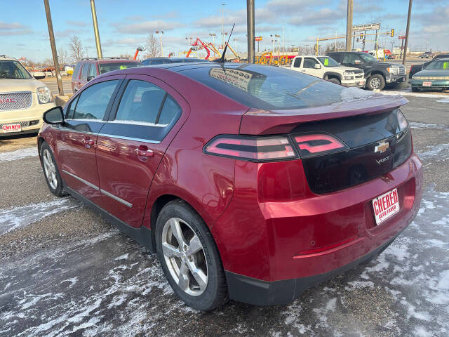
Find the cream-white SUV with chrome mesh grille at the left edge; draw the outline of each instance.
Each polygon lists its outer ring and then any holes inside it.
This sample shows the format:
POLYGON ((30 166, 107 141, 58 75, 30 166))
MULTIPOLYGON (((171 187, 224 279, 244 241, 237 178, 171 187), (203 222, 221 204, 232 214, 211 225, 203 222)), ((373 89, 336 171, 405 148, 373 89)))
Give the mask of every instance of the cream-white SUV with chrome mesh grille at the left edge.
POLYGON ((0 138, 37 133, 42 114, 54 107, 50 89, 15 58, 0 55, 0 138))

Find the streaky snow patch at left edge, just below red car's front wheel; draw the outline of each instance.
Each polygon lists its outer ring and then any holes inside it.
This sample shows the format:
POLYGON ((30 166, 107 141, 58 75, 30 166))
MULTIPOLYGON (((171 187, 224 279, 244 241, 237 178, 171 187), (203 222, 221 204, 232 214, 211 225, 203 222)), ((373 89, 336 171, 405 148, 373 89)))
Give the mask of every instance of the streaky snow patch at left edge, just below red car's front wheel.
POLYGON ((67 197, 40 202, 39 204, 0 209, 0 235, 36 223, 52 214, 76 209, 80 206, 79 202, 67 197))

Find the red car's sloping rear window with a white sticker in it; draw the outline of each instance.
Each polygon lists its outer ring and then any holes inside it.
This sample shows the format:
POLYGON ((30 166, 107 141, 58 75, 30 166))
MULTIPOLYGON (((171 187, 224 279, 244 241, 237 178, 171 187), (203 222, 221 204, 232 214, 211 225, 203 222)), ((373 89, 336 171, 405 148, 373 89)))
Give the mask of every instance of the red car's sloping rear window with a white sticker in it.
POLYGON ((180 74, 227 95, 239 103, 262 110, 287 110, 330 105, 364 96, 343 86, 280 67, 240 65, 198 67, 180 74))

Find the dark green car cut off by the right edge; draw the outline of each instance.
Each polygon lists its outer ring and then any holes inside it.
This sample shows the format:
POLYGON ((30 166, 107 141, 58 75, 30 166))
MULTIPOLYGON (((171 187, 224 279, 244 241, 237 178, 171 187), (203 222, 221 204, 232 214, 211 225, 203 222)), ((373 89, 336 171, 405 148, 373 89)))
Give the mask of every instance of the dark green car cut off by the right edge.
POLYGON ((412 91, 422 89, 449 89, 449 58, 434 60, 412 77, 412 91))

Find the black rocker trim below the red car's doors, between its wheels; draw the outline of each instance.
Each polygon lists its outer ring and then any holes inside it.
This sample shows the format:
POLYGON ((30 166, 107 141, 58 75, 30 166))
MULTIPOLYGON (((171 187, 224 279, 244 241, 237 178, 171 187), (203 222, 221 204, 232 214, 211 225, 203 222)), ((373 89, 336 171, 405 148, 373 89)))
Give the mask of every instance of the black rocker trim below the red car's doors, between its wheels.
POLYGON ((100 216, 108 220, 110 223, 113 223, 114 225, 119 227, 119 230, 121 232, 128 234, 131 238, 135 240, 135 242, 138 242, 138 244, 145 246, 147 249, 149 249, 150 253, 156 253, 156 246, 154 245, 152 230, 150 230, 148 227, 145 226, 141 226, 138 228, 131 227, 130 225, 123 223, 123 221, 116 218, 111 213, 102 209, 97 204, 94 204, 91 200, 87 199, 86 197, 83 197, 83 195, 79 194, 75 190, 72 190, 72 188, 67 186, 65 181, 62 181, 62 185, 64 185, 65 191, 70 195, 72 195, 72 197, 78 199, 83 204, 92 209, 95 213, 100 214, 100 216))

